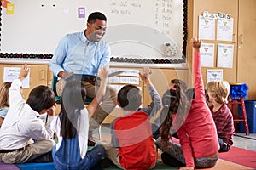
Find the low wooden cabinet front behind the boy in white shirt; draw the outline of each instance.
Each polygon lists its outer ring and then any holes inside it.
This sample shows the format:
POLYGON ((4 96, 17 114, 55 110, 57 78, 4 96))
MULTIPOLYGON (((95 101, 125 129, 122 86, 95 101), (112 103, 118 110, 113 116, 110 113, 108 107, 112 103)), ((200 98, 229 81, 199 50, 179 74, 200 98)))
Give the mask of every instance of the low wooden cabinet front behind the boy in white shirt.
MULTIPOLYGON (((4 67, 21 67, 22 65, 0 65, 0 71, 2 72, 0 76, 0 83, 3 83, 3 68, 4 67)), ((23 88, 23 95, 24 98, 27 99, 28 94, 38 85, 45 85, 47 86, 47 65, 29 65, 30 67, 30 82, 29 88, 23 88)))

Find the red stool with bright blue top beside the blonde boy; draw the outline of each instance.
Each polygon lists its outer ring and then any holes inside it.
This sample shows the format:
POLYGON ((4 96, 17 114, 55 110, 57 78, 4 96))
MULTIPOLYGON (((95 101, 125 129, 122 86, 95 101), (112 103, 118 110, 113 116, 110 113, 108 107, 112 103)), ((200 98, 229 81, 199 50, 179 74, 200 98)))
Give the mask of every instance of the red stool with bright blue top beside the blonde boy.
POLYGON ((235 122, 244 122, 246 135, 249 135, 249 127, 247 122, 247 111, 244 99, 247 98, 248 87, 245 83, 230 83, 230 98, 228 105, 231 105, 231 112, 235 122), (237 114, 237 105, 241 105, 241 115, 237 114))

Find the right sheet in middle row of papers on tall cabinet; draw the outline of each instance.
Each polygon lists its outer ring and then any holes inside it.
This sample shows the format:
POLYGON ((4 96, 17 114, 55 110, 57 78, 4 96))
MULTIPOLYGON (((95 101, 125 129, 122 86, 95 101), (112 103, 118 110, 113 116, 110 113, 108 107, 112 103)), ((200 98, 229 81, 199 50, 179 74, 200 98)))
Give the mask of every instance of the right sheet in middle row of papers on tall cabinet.
POLYGON ((233 58, 234 45, 218 43, 217 67, 232 68, 233 58))

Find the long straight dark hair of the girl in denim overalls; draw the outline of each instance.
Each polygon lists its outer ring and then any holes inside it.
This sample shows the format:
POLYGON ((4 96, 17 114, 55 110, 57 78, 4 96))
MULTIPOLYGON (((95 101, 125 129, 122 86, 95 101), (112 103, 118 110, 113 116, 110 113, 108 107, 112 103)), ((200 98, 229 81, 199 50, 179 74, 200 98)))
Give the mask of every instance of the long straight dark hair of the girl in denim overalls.
POLYGON ((61 136, 72 139, 77 134, 77 122, 84 109, 86 89, 79 81, 68 81, 61 96, 61 136))

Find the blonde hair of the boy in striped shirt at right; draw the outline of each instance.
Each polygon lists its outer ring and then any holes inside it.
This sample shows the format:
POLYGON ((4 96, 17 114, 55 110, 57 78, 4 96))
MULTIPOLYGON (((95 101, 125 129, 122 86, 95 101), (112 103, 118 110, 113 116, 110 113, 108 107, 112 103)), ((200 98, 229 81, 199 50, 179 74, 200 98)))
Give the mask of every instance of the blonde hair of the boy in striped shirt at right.
POLYGON ((230 94, 230 83, 227 81, 212 81, 207 83, 207 92, 215 94, 215 101, 219 104, 227 104, 230 94))

